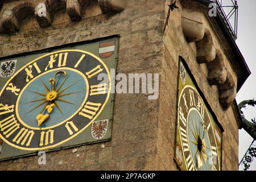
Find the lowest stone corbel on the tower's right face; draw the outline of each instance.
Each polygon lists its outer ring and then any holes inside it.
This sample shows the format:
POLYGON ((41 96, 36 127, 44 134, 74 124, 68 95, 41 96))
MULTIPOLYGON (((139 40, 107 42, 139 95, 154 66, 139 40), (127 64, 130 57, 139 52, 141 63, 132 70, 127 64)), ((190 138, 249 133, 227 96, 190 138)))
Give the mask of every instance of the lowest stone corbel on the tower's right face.
POLYGON ((228 109, 237 96, 237 87, 229 72, 224 84, 218 85, 218 92, 220 104, 224 109, 228 109))

